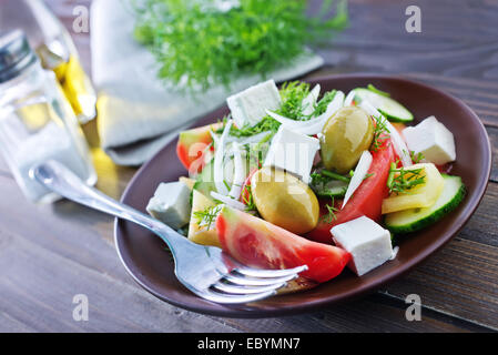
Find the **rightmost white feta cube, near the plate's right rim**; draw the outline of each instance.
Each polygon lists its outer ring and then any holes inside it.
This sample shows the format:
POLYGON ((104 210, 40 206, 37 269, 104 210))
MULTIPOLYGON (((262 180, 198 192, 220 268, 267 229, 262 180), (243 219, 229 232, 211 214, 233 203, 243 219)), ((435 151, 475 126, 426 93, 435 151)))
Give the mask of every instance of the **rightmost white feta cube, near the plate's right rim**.
POLYGON ((453 133, 434 115, 406 128, 403 135, 408 149, 415 154, 424 154, 427 162, 441 165, 455 161, 457 156, 453 133))

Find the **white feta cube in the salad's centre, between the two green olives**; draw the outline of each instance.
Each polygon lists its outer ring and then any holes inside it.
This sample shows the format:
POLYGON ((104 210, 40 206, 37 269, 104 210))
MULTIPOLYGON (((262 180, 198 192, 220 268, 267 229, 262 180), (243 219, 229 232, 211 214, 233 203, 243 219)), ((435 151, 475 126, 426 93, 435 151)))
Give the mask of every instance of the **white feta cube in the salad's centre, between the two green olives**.
POLYGON ((319 141, 316 138, 281 125, 272 140, 263 165, 285 170, 307 184, 318 149, 319 141))

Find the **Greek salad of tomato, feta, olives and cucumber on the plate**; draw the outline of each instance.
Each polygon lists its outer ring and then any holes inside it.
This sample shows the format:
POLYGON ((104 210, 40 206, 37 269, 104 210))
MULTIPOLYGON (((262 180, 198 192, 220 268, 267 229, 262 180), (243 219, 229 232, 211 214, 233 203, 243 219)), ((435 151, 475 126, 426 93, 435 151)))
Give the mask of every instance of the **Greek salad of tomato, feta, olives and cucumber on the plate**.
POLYGON ((396 236, 437 223, 465 197, 449 173, 451 132, 436 116, 414 125, 372 84, 345 94, 270 80, 227 105, 226 118, 180 133, 189 176, 161 183, 146 209, 243 264, 306 264, 299 276, 314 284, 345 267, 362 276, 396 257, 396 236))

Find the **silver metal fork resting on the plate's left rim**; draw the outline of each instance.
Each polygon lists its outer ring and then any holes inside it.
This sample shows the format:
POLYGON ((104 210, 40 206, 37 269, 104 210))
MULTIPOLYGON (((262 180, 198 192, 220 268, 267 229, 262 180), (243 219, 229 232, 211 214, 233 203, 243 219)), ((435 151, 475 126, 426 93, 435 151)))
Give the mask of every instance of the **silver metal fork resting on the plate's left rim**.
POLYGON ((194 244, 164 223, 88 186, 55 161, 32 168, 30 176, 69 200, 138 223, 159 235, 173 254, 179 281, 202 298, 226 304, 263 300, 307 270, 306 265, 286 270, 244 266, 221 248, 194 244))

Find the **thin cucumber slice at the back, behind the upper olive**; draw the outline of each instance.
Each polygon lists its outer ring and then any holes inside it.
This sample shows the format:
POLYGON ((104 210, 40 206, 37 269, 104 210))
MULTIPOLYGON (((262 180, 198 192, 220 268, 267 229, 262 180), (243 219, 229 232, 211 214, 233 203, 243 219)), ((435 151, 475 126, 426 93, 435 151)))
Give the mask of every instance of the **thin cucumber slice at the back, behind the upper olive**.
POLYGON ((399 102, 365 88, 355 89, 355 98, 373 104, 392 122, 411 122, 414 115, 399 102))

